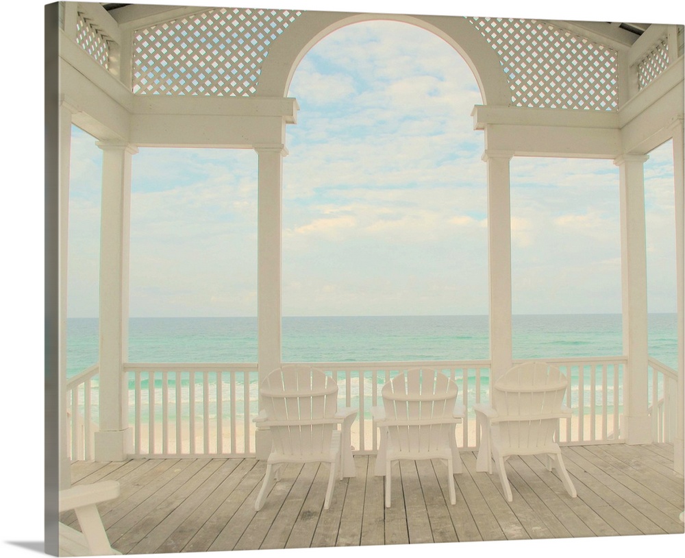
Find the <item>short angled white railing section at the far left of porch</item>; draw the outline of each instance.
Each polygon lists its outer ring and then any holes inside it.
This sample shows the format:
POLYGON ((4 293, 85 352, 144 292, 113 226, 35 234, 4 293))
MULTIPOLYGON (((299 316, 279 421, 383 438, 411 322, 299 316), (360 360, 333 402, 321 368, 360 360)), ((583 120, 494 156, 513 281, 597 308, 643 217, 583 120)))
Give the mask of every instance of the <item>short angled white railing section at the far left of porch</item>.
POLYGON ((99 422, 99 364, 94 364, 66 381, 66 446, 71 461, 93 459, 95 431, 99 422))

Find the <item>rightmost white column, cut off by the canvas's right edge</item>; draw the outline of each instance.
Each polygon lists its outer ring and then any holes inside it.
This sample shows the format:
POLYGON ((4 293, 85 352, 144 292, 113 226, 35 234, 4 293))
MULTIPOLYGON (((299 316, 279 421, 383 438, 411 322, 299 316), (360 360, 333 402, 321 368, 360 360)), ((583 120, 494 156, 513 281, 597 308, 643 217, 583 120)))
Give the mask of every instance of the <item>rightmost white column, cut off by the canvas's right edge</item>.
POLYGON ((675 265, 677 286, 677 313, 678 313, 678 413, 677 430, 673 440, 675 454, 673 467, 675 471, 683 474, 685 444, 683 441, 685 423, 685 195, 684 195, 684 158, 685 147, 683 140, 683 117, 675 120, 671 128, 673 130, 673 178, 675 179, 675 265))

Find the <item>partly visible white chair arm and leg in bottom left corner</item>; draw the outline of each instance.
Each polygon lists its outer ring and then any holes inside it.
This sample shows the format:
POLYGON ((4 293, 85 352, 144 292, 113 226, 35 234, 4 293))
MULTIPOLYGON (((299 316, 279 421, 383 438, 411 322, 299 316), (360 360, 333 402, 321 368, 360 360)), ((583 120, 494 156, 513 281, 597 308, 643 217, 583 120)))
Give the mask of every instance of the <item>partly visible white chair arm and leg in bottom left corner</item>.
POLYGON ((81 531, 60 522, 60 556, 101 556, 121 554, 110 546, 97 505, 119 496, 119 483, 101 481, 60 490, 60 513, 73 511, 81 531))

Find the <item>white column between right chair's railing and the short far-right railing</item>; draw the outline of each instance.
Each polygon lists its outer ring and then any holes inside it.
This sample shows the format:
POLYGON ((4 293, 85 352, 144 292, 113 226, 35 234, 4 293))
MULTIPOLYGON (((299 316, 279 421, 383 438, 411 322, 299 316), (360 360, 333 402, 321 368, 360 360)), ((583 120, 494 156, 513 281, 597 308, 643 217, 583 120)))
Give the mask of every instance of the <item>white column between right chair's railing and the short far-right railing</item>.
POLYGON ((623 437, 650 444, 647 414, 647 241, 645 239, 645 155, 624 155, 614 164, 621 182, 621 278, 623 306, 623 437))

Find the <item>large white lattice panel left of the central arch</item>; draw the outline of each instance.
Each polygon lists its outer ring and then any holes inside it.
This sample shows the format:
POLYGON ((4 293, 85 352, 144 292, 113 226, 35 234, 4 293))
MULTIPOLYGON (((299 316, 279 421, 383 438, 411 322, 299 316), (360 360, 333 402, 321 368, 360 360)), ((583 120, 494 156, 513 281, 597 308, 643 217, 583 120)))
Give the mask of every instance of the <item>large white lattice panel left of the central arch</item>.
POLYGON ((140 29, 134 34, 133 91, 249 97, 269 45, 300 13, 218 8, 140 29))

